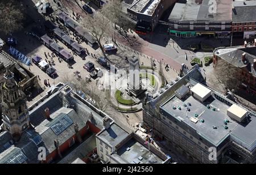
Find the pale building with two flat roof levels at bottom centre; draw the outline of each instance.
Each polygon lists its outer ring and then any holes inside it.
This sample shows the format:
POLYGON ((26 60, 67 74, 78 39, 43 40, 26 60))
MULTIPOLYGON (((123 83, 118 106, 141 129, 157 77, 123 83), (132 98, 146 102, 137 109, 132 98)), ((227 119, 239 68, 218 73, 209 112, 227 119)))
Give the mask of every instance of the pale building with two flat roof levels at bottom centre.
POLYGON ((102 163, 162 164, 170 163, 164 153, 135 133, 127 133, 110 118, 104 118, 104 129, 96 135, 97 153, 102 163))

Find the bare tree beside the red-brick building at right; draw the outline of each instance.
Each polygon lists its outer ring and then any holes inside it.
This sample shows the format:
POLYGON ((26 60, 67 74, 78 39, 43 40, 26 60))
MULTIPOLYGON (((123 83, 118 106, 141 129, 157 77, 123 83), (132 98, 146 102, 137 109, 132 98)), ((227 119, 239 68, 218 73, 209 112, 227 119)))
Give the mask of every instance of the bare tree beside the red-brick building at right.
POLYGON ((214 75, 229 89, 237 90, 241 83, 240 69, 222 59, 214 65, 214 75))

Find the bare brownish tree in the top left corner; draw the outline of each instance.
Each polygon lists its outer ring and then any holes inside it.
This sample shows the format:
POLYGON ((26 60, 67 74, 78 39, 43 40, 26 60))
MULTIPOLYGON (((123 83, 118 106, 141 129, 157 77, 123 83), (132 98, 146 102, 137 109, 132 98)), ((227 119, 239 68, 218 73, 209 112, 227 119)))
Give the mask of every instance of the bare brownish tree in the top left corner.
POLYGON ((7 33, 15 32, 22 28, 24 19, 22 7, 13 0, 1 0, 0 2, 0 31, 7 33))

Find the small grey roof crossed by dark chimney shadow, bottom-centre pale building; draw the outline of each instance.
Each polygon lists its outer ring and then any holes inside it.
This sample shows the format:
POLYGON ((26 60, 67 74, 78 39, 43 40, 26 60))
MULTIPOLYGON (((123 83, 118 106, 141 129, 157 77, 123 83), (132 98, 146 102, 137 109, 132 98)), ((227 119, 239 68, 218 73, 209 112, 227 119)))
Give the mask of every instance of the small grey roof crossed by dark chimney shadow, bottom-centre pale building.
POLYGON ((109 129, 102 130, 97 136, 100 137, 105 143, 115 147, 128 135, 129 134, 125 130, 115 123, 112 123, 109 129))

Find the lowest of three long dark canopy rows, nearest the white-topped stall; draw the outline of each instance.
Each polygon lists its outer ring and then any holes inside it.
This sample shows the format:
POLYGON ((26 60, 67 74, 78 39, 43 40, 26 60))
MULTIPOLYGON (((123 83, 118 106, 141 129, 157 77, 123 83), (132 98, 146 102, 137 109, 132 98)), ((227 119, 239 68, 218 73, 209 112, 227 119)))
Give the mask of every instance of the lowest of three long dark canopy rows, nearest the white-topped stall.
POLYGON ((63 47, 61 47, 55 41, 53 41, 49 36, 44 35, 40 39, 43 42, 43 44, 47 46, 47 48, 51 49, 58 56, 65 59, 65 61, 69 62, 74 59, 74 57, 71 53, 69 53, 67 50, 65 50, 63 47))

